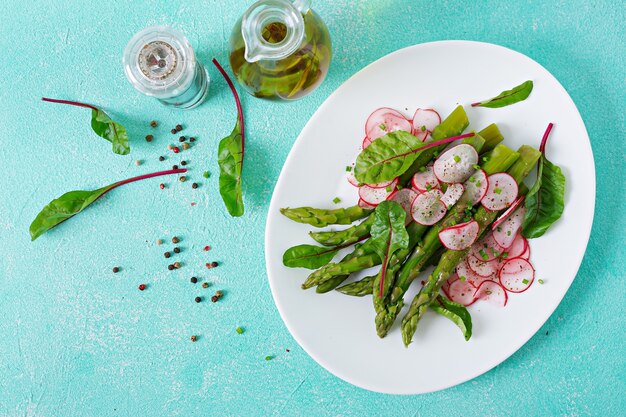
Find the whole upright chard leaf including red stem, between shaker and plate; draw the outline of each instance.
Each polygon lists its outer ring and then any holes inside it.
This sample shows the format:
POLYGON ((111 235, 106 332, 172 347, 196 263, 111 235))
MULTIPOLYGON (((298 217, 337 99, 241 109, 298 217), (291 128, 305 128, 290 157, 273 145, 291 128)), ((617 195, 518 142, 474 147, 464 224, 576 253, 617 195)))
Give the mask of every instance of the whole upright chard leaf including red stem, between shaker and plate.
POLYGON ((239 217, 243 215, 243 195, 241 190, 241 174, 245 150, 243 111, 239 95, 230 77, 215 58, 213 58, 213 64, 228 83, 237 105, 237 122, 230 135, 220 141, 217 163, 220 167, 220 195, 224 205, 231 216, 239 217))

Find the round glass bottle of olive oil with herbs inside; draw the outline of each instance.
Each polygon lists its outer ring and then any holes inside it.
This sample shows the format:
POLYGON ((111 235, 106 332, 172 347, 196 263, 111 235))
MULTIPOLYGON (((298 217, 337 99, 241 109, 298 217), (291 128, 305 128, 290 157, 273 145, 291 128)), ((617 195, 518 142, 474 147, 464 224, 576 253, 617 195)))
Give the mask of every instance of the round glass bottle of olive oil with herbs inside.
POLYGON ((330 34, 311 0, 260 0, 235 24, 230 66, 237 81, 261 98, 295 100, 324 80, 330 34))

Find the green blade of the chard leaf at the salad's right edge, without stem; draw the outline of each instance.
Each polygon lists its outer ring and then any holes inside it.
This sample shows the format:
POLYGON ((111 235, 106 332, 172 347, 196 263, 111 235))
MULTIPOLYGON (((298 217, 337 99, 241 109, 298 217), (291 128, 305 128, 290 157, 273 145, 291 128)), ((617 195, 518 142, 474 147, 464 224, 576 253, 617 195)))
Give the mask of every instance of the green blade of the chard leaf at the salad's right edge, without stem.
POLYGON ((561 217, 564 207, 565 176, 561 168, 542 156, 537 181, 526 196, 522 235, 529 239, 542 236, 561 217))

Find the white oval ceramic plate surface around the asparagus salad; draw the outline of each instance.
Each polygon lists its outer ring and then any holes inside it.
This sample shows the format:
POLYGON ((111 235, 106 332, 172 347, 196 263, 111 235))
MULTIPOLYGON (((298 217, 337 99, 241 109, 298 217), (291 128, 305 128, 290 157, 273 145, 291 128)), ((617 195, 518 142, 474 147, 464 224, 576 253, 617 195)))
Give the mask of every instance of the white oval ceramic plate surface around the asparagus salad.
MULTIPOLYGON (((595 169, 583 121, 565 89, 541 65, 510 49, 479 42, 444 41, 389 54, 346 81, 313 115, 282 170, 270 204, 265 236, 267 273, 276 306, 293 337, 328 371, 359 387, 392 394, 418 394, 468 381, 498 365, 543 325, 576 276, 591 231, 595 169), (469 103, 531 79, 524 102, 502 109, 469 103), (466 105, 470 129, 497 122, 505 144, 539 146, 554 122, 547 155, 567 179, 565 211, 546 235, 532 240, 537 269, 532 287, 511 294, 505 308, 486 303, 469 307, 474 334, 466 342, 447 319, 428 312, 414 342, 403 346, 396 323, 385 339, 374 329, 370 297, 336 291, 303 291, 305 269, 282 265, 290 246, 315 243, 312 227, 294 223, 280 207, 337 207, 356 204, 356 189, 345 179, 364 136, 367 116, 388 106, 411 117, 417 107, 433 107, 445 117, 466 105)), ((340 228, 338 226, 337 228, 340 228)), ((410 303, 418 285, 405 300, 410 303)), ((405 307, 406 311, 406 307, 405 307)), ((398 320, 399 321, 399 320, 398 320)))

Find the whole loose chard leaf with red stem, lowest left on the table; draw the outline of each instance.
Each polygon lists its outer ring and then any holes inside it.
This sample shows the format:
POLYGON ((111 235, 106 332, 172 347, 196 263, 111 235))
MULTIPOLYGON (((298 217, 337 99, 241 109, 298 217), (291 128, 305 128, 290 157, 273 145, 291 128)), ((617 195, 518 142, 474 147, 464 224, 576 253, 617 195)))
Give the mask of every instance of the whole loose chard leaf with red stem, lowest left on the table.
POLYGON ((169 171, 154 172, 152 174, 140 175, 138 177, 118 181, 105 187, 98 188, 97 190, 78 190, 67 192, 61 197, 48 203, 48 205, 39 212, 37 217, 35 217, 35 220, 33 220, 30 225, 31 240, 37 239, 48 230, 77 215, 100 197, 119 186, 148 178, 170 174, 182 174, 184 172, 187 172, 184 168, 171 169, 169 171))

